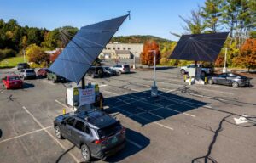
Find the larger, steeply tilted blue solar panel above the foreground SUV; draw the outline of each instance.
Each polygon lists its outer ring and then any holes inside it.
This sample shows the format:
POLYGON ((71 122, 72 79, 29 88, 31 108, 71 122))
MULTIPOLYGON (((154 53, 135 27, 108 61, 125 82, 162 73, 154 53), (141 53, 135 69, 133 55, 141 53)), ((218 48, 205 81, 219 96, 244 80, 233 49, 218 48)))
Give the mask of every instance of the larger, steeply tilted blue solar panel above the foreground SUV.
POLYGON ((82 27, 49 70, 79 83, 128 15, 82 27))

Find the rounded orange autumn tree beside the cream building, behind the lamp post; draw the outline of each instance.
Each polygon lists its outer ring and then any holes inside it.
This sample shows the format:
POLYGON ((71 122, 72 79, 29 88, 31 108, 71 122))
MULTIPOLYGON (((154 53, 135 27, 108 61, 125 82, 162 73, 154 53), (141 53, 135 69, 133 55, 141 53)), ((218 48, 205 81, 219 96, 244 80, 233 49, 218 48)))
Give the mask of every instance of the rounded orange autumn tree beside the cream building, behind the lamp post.
POLYGON ((154 40, 144 43, 143 52, 141 53, 141 60, 143 65, 154 65, 154 51, 155 50, 155 64, 160 63, 160 49, 157 42, 154 40))

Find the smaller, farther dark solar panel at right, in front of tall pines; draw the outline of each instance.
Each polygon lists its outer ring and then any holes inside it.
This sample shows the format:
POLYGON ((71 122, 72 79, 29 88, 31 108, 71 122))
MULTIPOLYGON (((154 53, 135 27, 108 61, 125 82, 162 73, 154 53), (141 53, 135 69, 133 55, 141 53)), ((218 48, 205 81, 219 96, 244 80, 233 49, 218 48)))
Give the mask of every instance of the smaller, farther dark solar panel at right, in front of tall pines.
POLYGON ((223 48, 228 34, 228 32, 222 32, 183 35, 169 59, 214 62, 223 48))

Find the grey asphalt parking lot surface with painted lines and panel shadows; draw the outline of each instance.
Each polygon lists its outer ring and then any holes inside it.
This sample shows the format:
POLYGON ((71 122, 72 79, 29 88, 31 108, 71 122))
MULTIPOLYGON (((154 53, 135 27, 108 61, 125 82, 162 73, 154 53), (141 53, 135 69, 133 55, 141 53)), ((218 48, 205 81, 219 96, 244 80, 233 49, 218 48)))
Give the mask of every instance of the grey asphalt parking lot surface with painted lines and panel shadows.
MULTIPOLYGON (((0 70, 0 77, 13 72, 0 70)), ((188 86, 173 68, 157 70, 160 96, 151 98, 152 76, 140 70, 86 76, 99 84, 106 112, 127 128, 125 149, 95 162, 255 162, 255 87, 188 86), (241 122, 243 114, 248 117, 241 122)), ((53 129, 55 116, 71 111, 64 103, 70 83, 25 82, 24 89, 0 89, 1 163, 83 162, 79 149, 56 139, 53 129)))

